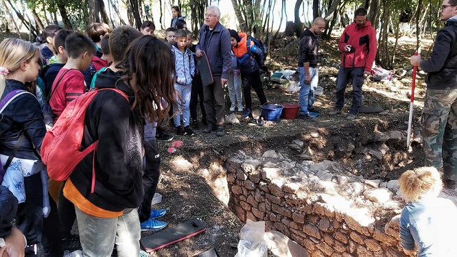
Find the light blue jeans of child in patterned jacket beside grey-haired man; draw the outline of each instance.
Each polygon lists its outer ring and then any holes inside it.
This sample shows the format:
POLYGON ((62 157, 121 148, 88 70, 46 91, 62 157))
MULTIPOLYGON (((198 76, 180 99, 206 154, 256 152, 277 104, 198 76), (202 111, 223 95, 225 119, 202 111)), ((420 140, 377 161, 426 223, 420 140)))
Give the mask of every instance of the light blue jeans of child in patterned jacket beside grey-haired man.
POLYGON ((181 96, 181 99, 176 98, 176 101, 178 104, 175 104, 173 106, 173 110, 176 112, 178 111, 178 114, 176 114, 173 117, 173 122, 174 126, 180 126, 181 125, 181 114, 183 115, 183 124, 184 126, 189 126, 190 124, 190 109, 189 109, 189 103, 190 103, 190 95, 191 95, 191 89, 192 85, 179 85, 174 83, 174 89, 176 90, 176 93, 179 93, 181 96))

